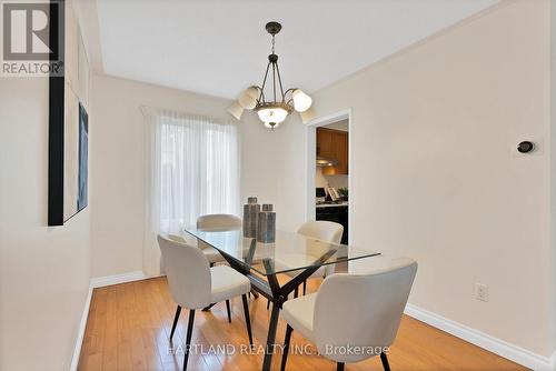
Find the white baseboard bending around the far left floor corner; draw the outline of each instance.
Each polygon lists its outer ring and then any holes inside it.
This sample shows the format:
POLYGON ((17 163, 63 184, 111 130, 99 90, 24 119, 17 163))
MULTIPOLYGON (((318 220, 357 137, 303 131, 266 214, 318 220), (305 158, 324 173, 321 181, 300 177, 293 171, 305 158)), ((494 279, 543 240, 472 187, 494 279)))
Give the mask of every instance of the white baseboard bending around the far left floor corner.
POLYGON ((87 327, 87 320, 89 319, 89 308, 91 305, 92 290, 106 285, 140 281, 147 278, 149 277, 146 275, 143 272, 136 271, 123 274, 97 277, 91 279, 89 283, 89 292, 87 293, 87 299, 85 301, 83 313, 81 314, 81 322, 79 323, 79 330, 76 338, 76 347, 73 348, 73 355, 71 357, 70 371, 77 371, 77 367, 79 364, 79 355, 81 354, 81 345, 83 343, 85 329, 87 327))

